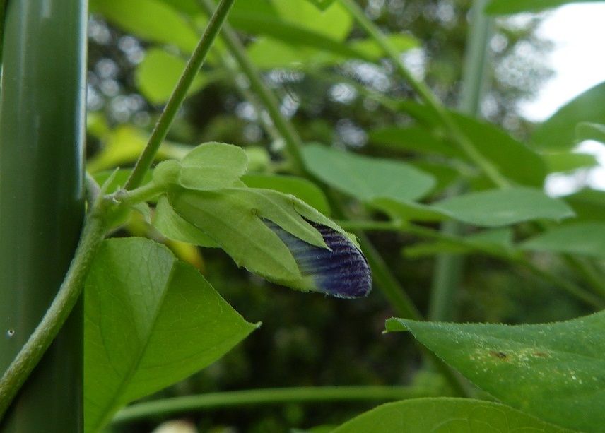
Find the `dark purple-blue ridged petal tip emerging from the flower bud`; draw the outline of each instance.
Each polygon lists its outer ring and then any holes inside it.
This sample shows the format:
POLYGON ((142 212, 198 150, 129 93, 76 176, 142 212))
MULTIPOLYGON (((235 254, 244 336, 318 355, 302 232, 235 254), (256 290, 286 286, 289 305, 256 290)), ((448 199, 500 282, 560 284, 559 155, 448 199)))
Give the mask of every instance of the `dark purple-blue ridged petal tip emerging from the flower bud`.
POLYGON ((364 297, 372 290, 372 273, 363 253, 351 239, 325 225, 308 221, 322 235, 329 249, 298 239, 266 221, 292 253, 301 275, 312 282, 311 290, 334 297, 364 297))

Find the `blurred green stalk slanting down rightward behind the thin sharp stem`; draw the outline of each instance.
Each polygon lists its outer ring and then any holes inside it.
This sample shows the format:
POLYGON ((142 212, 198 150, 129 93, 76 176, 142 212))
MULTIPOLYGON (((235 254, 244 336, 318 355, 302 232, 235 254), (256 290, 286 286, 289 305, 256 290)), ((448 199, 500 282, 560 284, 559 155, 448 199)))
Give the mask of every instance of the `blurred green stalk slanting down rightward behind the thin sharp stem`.
MULTIPOLYGON (((211 0, 199 0, 199 4, 210 13, 212 11, 211 0)), ((240 38, 237 37, 237 33, 228 23, 223 25, 221 30, 221 36, 225 45, 229 48, 229 51, 235 57, 235 60, 240 65, 240 69, 245 73, 246 77, 250 82, 250 88, 254 90, 254 93, 259 97, 259 100, 264 105, 269 117, 273 121, 275 128, 281 134, 283 140, 286 142, 286 148, 290 158, 292 158, 295 165, 295 169, 300 172, 305 172, 305 165, 303 162, 303 155, 301 149, 303 148, 303 141, 294 129, 294 126, 290 123, 286 117, 283 116, 279 109, 279 102, 275 97, 273 91, 264 83, 261 74, 256 66, 250 61, 246 54, 246 49, 240 38)))

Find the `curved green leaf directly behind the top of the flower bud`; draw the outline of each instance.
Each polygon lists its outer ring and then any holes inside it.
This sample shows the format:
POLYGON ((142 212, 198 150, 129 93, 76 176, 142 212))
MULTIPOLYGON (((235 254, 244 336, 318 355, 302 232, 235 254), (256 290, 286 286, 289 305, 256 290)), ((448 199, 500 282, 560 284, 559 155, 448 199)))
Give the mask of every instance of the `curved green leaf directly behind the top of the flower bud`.
POLYGON ((302 177, 283 176, 277 174, 246 174, 242 181, 250 188, 274 189, 283 194, 292 194, 319 210, 324 215, 330 215, 330 206, 324 195, 313 182, 302 177))

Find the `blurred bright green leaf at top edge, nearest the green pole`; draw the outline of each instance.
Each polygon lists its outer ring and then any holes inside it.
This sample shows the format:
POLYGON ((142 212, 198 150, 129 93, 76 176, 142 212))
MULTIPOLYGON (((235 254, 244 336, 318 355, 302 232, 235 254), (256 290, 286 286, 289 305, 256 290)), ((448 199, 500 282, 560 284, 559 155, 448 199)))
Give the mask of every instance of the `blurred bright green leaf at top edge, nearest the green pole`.
POLYGON ((90 10, 143 40, 192 52, 199 39, 178 11, 160 0, 92 0, 90 10))

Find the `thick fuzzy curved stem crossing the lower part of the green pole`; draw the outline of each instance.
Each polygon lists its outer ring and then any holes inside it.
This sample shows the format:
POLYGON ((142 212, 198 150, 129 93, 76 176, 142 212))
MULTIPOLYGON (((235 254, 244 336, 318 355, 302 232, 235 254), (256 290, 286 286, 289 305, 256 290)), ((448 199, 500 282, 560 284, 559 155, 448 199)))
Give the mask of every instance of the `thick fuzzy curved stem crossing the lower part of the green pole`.
POLYGON ((59 287, 57 296, 54 297, 42 321, 0 379, 0 419, 76 305, 82 292, 84 279, 93 264, 95 253, 104 234, 102 218, 96 212, 90 213, 86 218, 74 260, 69 266, 65 280, 59 287))

